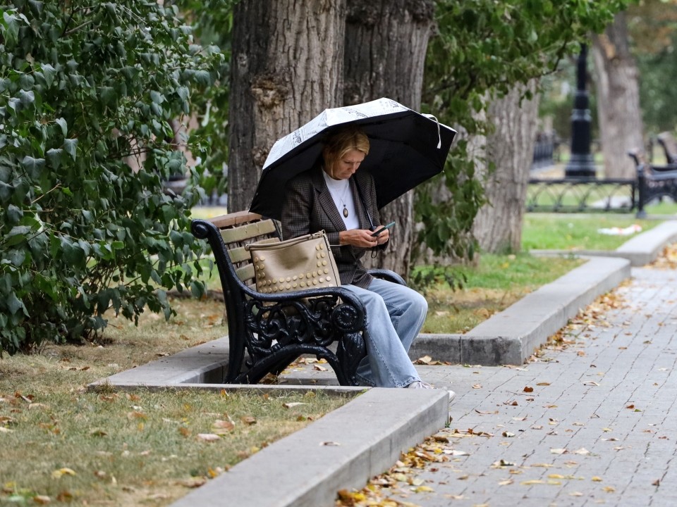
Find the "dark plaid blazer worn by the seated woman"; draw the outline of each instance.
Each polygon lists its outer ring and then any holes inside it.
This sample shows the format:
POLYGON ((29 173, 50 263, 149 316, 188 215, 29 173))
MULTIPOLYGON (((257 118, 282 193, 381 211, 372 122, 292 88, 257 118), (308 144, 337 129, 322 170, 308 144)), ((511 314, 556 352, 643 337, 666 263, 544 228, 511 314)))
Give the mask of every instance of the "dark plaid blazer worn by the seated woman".
MULTIPOLYGON (((282 237, 290 239, 324 230, 329 244, 332 245, 331 252, 334 253, 341 284, 353 284, 366 289, 372 281, 372 276, 362 265, 362 256, 365 255, 367 249, 352 245, 338 246, 338 232, 346 230, 346 224, 338 214, 334 199, 320 173, 321 170, 322 168, 319 167, 307 170, 287 183, 282 206, 282 237)), ((360 228, 371 229, 372 225, 367 218, 365 206, 362 204, 356 185, 360 186, 364 204, 367 206, 374 227, 378 227, 381 221, 376 207, 376 189, 372 175, 367 171, 358 170, 348 181, 350 192, 353 192, 355 208, 358 210, 360 228)), ((385 244, 380 245, 379 249, 384 247, 385 244)))

